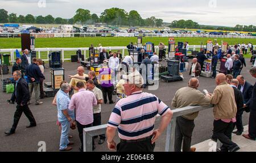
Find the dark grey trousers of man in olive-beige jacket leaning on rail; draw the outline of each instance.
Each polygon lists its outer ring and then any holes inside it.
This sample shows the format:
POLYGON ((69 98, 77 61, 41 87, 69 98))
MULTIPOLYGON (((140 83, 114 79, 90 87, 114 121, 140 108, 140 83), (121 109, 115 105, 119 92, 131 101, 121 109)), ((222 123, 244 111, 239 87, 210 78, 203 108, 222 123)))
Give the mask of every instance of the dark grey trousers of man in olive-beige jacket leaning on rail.
POLYGON ((183 117, 177 117, 175 128, 175 143, 174 151, 181 152, 181 144, 183 141, 183 152, 190 152, 191 149, 191 137, 195 127, 195 123, 192 120, 185 119, 183 117))

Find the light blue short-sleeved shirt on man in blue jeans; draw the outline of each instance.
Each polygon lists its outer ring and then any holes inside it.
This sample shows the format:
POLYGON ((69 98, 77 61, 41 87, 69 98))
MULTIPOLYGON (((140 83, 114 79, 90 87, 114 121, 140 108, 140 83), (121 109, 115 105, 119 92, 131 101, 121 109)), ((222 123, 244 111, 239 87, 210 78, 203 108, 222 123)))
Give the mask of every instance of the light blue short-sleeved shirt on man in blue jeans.
POLYGON ((68 109, 68 105, 69 105, 69 96, 68 93, 65 93, 63 91, 59 91, 57 92, 56 95, 56 104, 57 104, 57 110, 58 110, 58 121, 62 122, 62 121, 68 121, 67 117, 65 117, 65 115, 63 114, 63 110, 68 110, 68 114, 69 116, 75 120, 75 113, 74 111, 71 111, 68 109))

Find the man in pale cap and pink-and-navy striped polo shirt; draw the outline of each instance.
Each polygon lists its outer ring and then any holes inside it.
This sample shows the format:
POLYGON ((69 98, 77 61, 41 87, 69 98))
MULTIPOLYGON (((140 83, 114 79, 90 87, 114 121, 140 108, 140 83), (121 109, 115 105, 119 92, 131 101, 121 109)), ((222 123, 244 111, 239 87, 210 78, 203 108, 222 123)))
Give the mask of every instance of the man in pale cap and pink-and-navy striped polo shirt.
POLYGON ((159 138, 172 118, 172 111, 158 97, 142 92, 143 78, 139 72, 123 75, 126 98, 115 105, 106 131, 108 148, 118 152, 153 152, 159 138), (160 127, 154 131, 156 115, 162 116, 160 127), (121 142, 114 141, 118 128, 121 142))

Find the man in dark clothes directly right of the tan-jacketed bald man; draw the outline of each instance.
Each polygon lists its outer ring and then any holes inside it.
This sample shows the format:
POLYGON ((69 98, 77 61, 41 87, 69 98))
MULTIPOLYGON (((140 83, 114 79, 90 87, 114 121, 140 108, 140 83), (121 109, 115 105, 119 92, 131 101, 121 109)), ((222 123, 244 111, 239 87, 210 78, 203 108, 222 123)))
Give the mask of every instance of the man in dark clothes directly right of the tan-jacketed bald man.
MULTIPOLYGON (((237 89, 237 87, 239 85, 239 81, 237 79, 232 79, 230 81, 230 85, 234 89, 234 95, 235 95, 235 100, 236 100, 236 104, 237 104, 236 119, 238 119, 238 116, 241 116, 240 115, 240 110, 243 108, 243 94, 239 89, 237 89)), ((237 126, 237 131, 236 131, 237 135, 242 135, 242 132, 243 132, 243 124, 241 122, 242 121, 237 121, 236 123, 233 124, 234 125, 233 130, 234 130, 234 127, 237 126)))

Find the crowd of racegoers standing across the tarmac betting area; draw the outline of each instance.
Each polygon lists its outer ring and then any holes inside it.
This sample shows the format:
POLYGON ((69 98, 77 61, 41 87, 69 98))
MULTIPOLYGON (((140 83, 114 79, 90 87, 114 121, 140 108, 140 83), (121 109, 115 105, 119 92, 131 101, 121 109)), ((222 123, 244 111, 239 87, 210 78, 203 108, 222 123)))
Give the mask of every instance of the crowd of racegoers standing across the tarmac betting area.
MULTIPOLYGON (((72 149, 71 145, 74 143, 69 141, 72 138, 69 135, 69 130, 77 128, 81 141, 80 151, 83 151, 83 128, 101 125, 101 105, 107 104, 109 101, 109 104, 115 104, 115 106, 109 118, 106 135, 99 135, 98 144, 104 144, 107 141, 110 150, 119 152, 154 151, 155 141, 159 139, 172 119, 172 110, 155 95, 143 92, 143 88, 150 84, 147 81, 147 76, 144 78, 135 68, 123 71, 124 68, 133 64, 133 58, 130 55, 126 55, 122 59, 118 55, 121 54, 120 52, 111 54, 112 52, 108 53, 104 48, 101 50, 100 63, 104 66, 101 67, 99 75, 96 77, 94 71, 89 71, 88 75, 84 74, 84 67, 78 67, 76 75, 69 75, 70 83, 61 82, 60 90, 52 102, 57 107, 57 125, 61 130, 59 150, 70 151, 72 149), (120 68, 119 63, 125 67, 120 68), (117 81, 116 102, 112 97, 115 81, 117 81), (72 89, 74 94, 70 98, 69 92, 72 89), (157 114, 162 118, 159 128, 155 129, 157 114), (120 138, 119 144, 114 141, 117 129, 120 138)), ((13 127, 5 132, 6 135, 14 134, 23 112, 30 120, 30 125, 27 127, 36 126, 35 118, 28 108, 28 105, 32 104, 32 92, 35 93, 35 104, 43 104, 40 101, 40 98, 44 98, 44 93, 40 93, 43 91, 43 80, 45 79, 43 63, 41 59, 32 58, 31 65, 28 65, 27 55, 28 50, 24 50, 22 57, 16 58, 13 66, 15 90, 10 102, 14 103, 15 101, 17 106, 13 127)), ((216 50, 214 50, 214 55, 217 55, 216 50)), ((223 144, 221 151, 234 152, 238 151, 240 147, 232 141, 232 132, 242 135, 244 111, 250 112, 249 134, 242 136, 250 140, 256 139, 256 85, 251 85, 241 75, 241 66, 245 65, 244 59, 241 59, 243 58, 242 54, 237 55, 236 52, 232 52, 227 54, 226 58, 225 67, 228 69, 228 75, 213 73, 212 78, 216 79, 217 85, 213 93, 202 93, 198 90, 198 76, 203 67, 202 62, 207 57, 202 51, 197 58, 193 58, 190 72, 192 78, 187 87, 181 88, 175 93, 171 105, 173 108, 179 109, 185 106, 213 104, 212 140, 221 141, 223 144), (234 131, 235 127, 236 131, 234 131)), ((216 71, 216 61, 213 59, 213 62, 213 70, 216 71)), ((159 63, 158 55, 154 53, 151 58, 148 58, 146 54, 142 65, 152 63, 159 63)), ((256 78, 256 67, 250 69, 250 74, 256 78)), ((193 128, 195 128, 194 121, 198 115, 199 112, 196 112, 176 118, 176 152, 180 152, 181 148, 183 152, 196 151, 195 148, 191 148, 191 139, 193 128)), ((96 148, 94 139, 97 137, 94 136, 92 140, 93 150, 96 148)))

